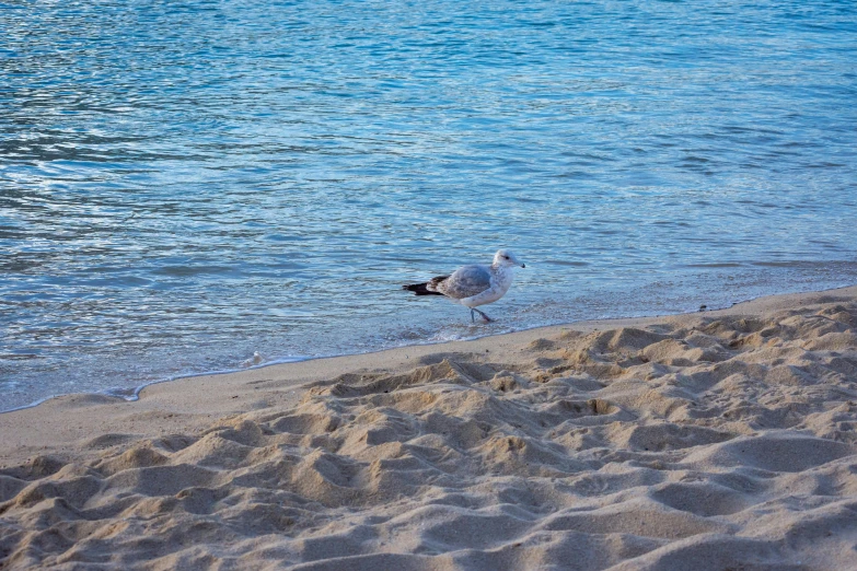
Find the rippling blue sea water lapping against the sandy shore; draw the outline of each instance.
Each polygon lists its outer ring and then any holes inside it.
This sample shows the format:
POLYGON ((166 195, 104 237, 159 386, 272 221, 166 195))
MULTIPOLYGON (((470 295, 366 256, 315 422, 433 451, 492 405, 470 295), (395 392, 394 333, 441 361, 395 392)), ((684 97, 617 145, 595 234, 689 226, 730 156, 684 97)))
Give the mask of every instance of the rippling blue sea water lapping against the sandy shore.
POLYGON ((0 1, 0 410, 857 283, 857 2, 0 1), (496 323, 401 284, 526 263, 496 323))

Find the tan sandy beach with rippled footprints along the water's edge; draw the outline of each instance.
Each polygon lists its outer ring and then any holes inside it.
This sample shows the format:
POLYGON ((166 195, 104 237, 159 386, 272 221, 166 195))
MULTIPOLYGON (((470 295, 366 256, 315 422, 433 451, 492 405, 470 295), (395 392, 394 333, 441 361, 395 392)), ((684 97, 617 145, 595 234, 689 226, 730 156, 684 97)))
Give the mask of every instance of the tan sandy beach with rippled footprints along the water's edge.
POLYGON ((857 288, 0 415, 0 569, 857 569, 857 288))

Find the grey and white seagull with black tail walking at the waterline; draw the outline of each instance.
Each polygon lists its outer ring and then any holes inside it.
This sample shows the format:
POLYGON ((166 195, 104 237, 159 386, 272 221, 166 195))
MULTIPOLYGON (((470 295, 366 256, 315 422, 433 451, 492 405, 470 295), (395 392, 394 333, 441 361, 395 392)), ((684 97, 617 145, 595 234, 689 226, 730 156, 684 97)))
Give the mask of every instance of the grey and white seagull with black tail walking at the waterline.
POLYGON ((482 315, 486 322, 491 322, 494 319, 476 306, 494 303, 502 298, 512 284, 514 269, 518 266, 526 267, 508 249, 499 249, 494 255, 494 263, 490 266, 485 264, 462 266, 449 276, 438 276, 425 283, 402 286, 402 289, 413 291, 416 295, 445 295, 454 303, 470 307, 472 322, 476 321, 474 312, 482 315))

